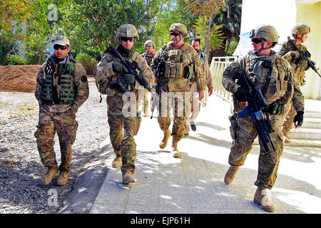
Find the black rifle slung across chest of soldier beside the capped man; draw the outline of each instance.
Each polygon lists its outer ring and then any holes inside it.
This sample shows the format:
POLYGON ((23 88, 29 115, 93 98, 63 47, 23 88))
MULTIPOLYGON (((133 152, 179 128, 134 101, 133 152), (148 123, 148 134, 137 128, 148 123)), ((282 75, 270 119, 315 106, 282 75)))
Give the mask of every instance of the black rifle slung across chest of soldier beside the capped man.
MULTIPOLYGON (((110 53, 113 57, 118 58, 123 66, 127 69, 128 73, 133 74, 135 76, 136 81, 141 84, 144 88, 146 88, 151 94, 153 95, 154 100, 159 102, 158 94, 154 93, 151 86, 149 86, 148 82, 141 76, 139 73, 137 73, 136 69, 138 71, 141 71, 141 68, 138 66, 138 63, 136 61, 130 62, 123 58, 120 53, 111 45, 108 47, 106 50, 108 53, 110 53)), ((125 82, 123 81, 123 78, 119 80, 116 85, 111 85, 111 86, 119 86, 121 88, 121 91, 123 93, 128 92, 128 89, 124 86, 125 82)), ((152 116, 153 118, 153 116, 152 116)))

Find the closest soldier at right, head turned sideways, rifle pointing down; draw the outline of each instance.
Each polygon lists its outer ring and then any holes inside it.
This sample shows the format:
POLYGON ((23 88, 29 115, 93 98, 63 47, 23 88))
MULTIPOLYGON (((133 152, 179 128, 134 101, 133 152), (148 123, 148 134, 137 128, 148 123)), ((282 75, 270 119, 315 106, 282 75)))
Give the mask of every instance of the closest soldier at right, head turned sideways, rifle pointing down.
MULTIPOLYGON (((235 76, 243 71, 251 80, 263 90, 263 96, 268 105, 272 128, 275 132, 270 133, 272 142, 276 147, 275 152, 266 152, 262 142, 260 142, 260 156, 258 165, 258 177, 255 185, 258 190, 255 192, 254 202, 259 204, 267 212, 274 211, 275 207, 267 199, 266 189, 271 189, 277 177, 277 167, 283 151, 282 123, 285 105, 290 105, 292 101, 297 116, 295 121, 301 125, 303 121, 304 97, 300 92, 300 86, 293 80, 293 71, 290 64, 282 57, 277 56, 271 48, 275 46, 279 36, 273 26, 263 25, 250 32, 252 38, 253 51, 240 58, 235 63, 231 63, 223 73, 223 86, 233 93, 234 111, 239 112, 247 105, 245 90, 235 82, 235 76), (268 80, 270 78, 270 81, 268 80), (265 83, 267 89, 265 90, 265 83), (264 91, 266 93, 264 94, 264 91)), ((233 145, 230 150, 228 162, 230 168, 225 174, 225 183, 230 185, 233 182, 236 172, 252 148, 253 141, 258 133, 255 130, 250 115, 243 119, 236 118, 232 125, 231 136, 233 145)))

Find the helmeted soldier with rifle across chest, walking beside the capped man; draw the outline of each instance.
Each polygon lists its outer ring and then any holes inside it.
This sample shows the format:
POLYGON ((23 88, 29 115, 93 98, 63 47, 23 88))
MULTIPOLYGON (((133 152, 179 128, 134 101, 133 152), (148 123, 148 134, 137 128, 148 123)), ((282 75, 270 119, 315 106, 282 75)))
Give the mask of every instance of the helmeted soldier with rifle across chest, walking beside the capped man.
MULTIPOLYGON (((118 28, 116 38, 119 45, 116 50, 128 61, 136 61, 141 68, 141 76, 153 86, 153 71, 146 63, 146 60, 139 55, 133 48, 133 44, 139 38, 136 27, 132 24, 123 24, 118 28)), ((98 90, 107 94, 107 116, 109 124, 109 135, 111 137, 111 145, 116 154, 112 166, 121 167, 123 173, 123 184, 135 182, 133 173, 135 172, 136 160, 136 143, 133 138, 137 135, 138 128, 141 125, 141 117, 138 113, 138 90, 142 86, 136 81, 135 76, 128 74, 125 66, 120 63, 118 58, 107 53, 98 63, 97 70, 94 75, 98 90), (129 106, 131 115, 126 114, 126 107, 129 101, 123 98, 123 92, 114 86, 123 78, 126 88, 131 91, 130 95, 133 105, 129 106), (135 108, 136 107, 136 108, 135 108), (132 110, 134 108, 135 110, 132 110)))

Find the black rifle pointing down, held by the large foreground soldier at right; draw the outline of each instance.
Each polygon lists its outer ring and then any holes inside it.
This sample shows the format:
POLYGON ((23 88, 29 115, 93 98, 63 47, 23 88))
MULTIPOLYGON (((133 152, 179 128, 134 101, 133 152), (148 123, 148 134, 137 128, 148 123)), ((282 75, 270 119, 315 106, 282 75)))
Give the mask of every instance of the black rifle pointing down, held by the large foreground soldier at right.
POLYGON ((265 151, 275 152, 275 145, 273 144, 270 137, 270 133, 273 133, 274 130, 272 129, 268 113, 265 112, 266 118, 263 115, 263 110, 266 110, 267 103, 265 103, 265 99, 263 98, 260 88, 254 86, 250 81, 250 78, 248 78, 248 76, 245 76, 245 73, 243 71, 240 71, 238 76, 236 76, 236 79, 238 79, 238 84, 245 89, 246 97, 248 100, 248 106, 246 108, 243 108, 243 110, 238 113, 238 116, 240 118, 244 118, 245 115, 250 114, 252 117, 252 122, 258 133, 258 137, 260 138, 265 151), (272 146, 272 150, 270 149, 269 142, 272 146))

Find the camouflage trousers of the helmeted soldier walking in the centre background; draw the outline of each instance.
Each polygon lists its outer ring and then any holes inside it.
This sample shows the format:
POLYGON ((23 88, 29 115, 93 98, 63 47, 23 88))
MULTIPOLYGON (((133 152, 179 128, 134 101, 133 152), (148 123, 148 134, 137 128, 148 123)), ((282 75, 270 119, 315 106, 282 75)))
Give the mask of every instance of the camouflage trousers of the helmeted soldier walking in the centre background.
POLYGON ((173 110, 173 129, 171 133, 173 142, 179 142, 183 138, 185 121, 190 115, 190 93, 178 92, 177 94, 172 93, 169 98, 160 95, 161 100, 158 109, 158 123, 164 133, 170 126, 170 110, 173 110))

